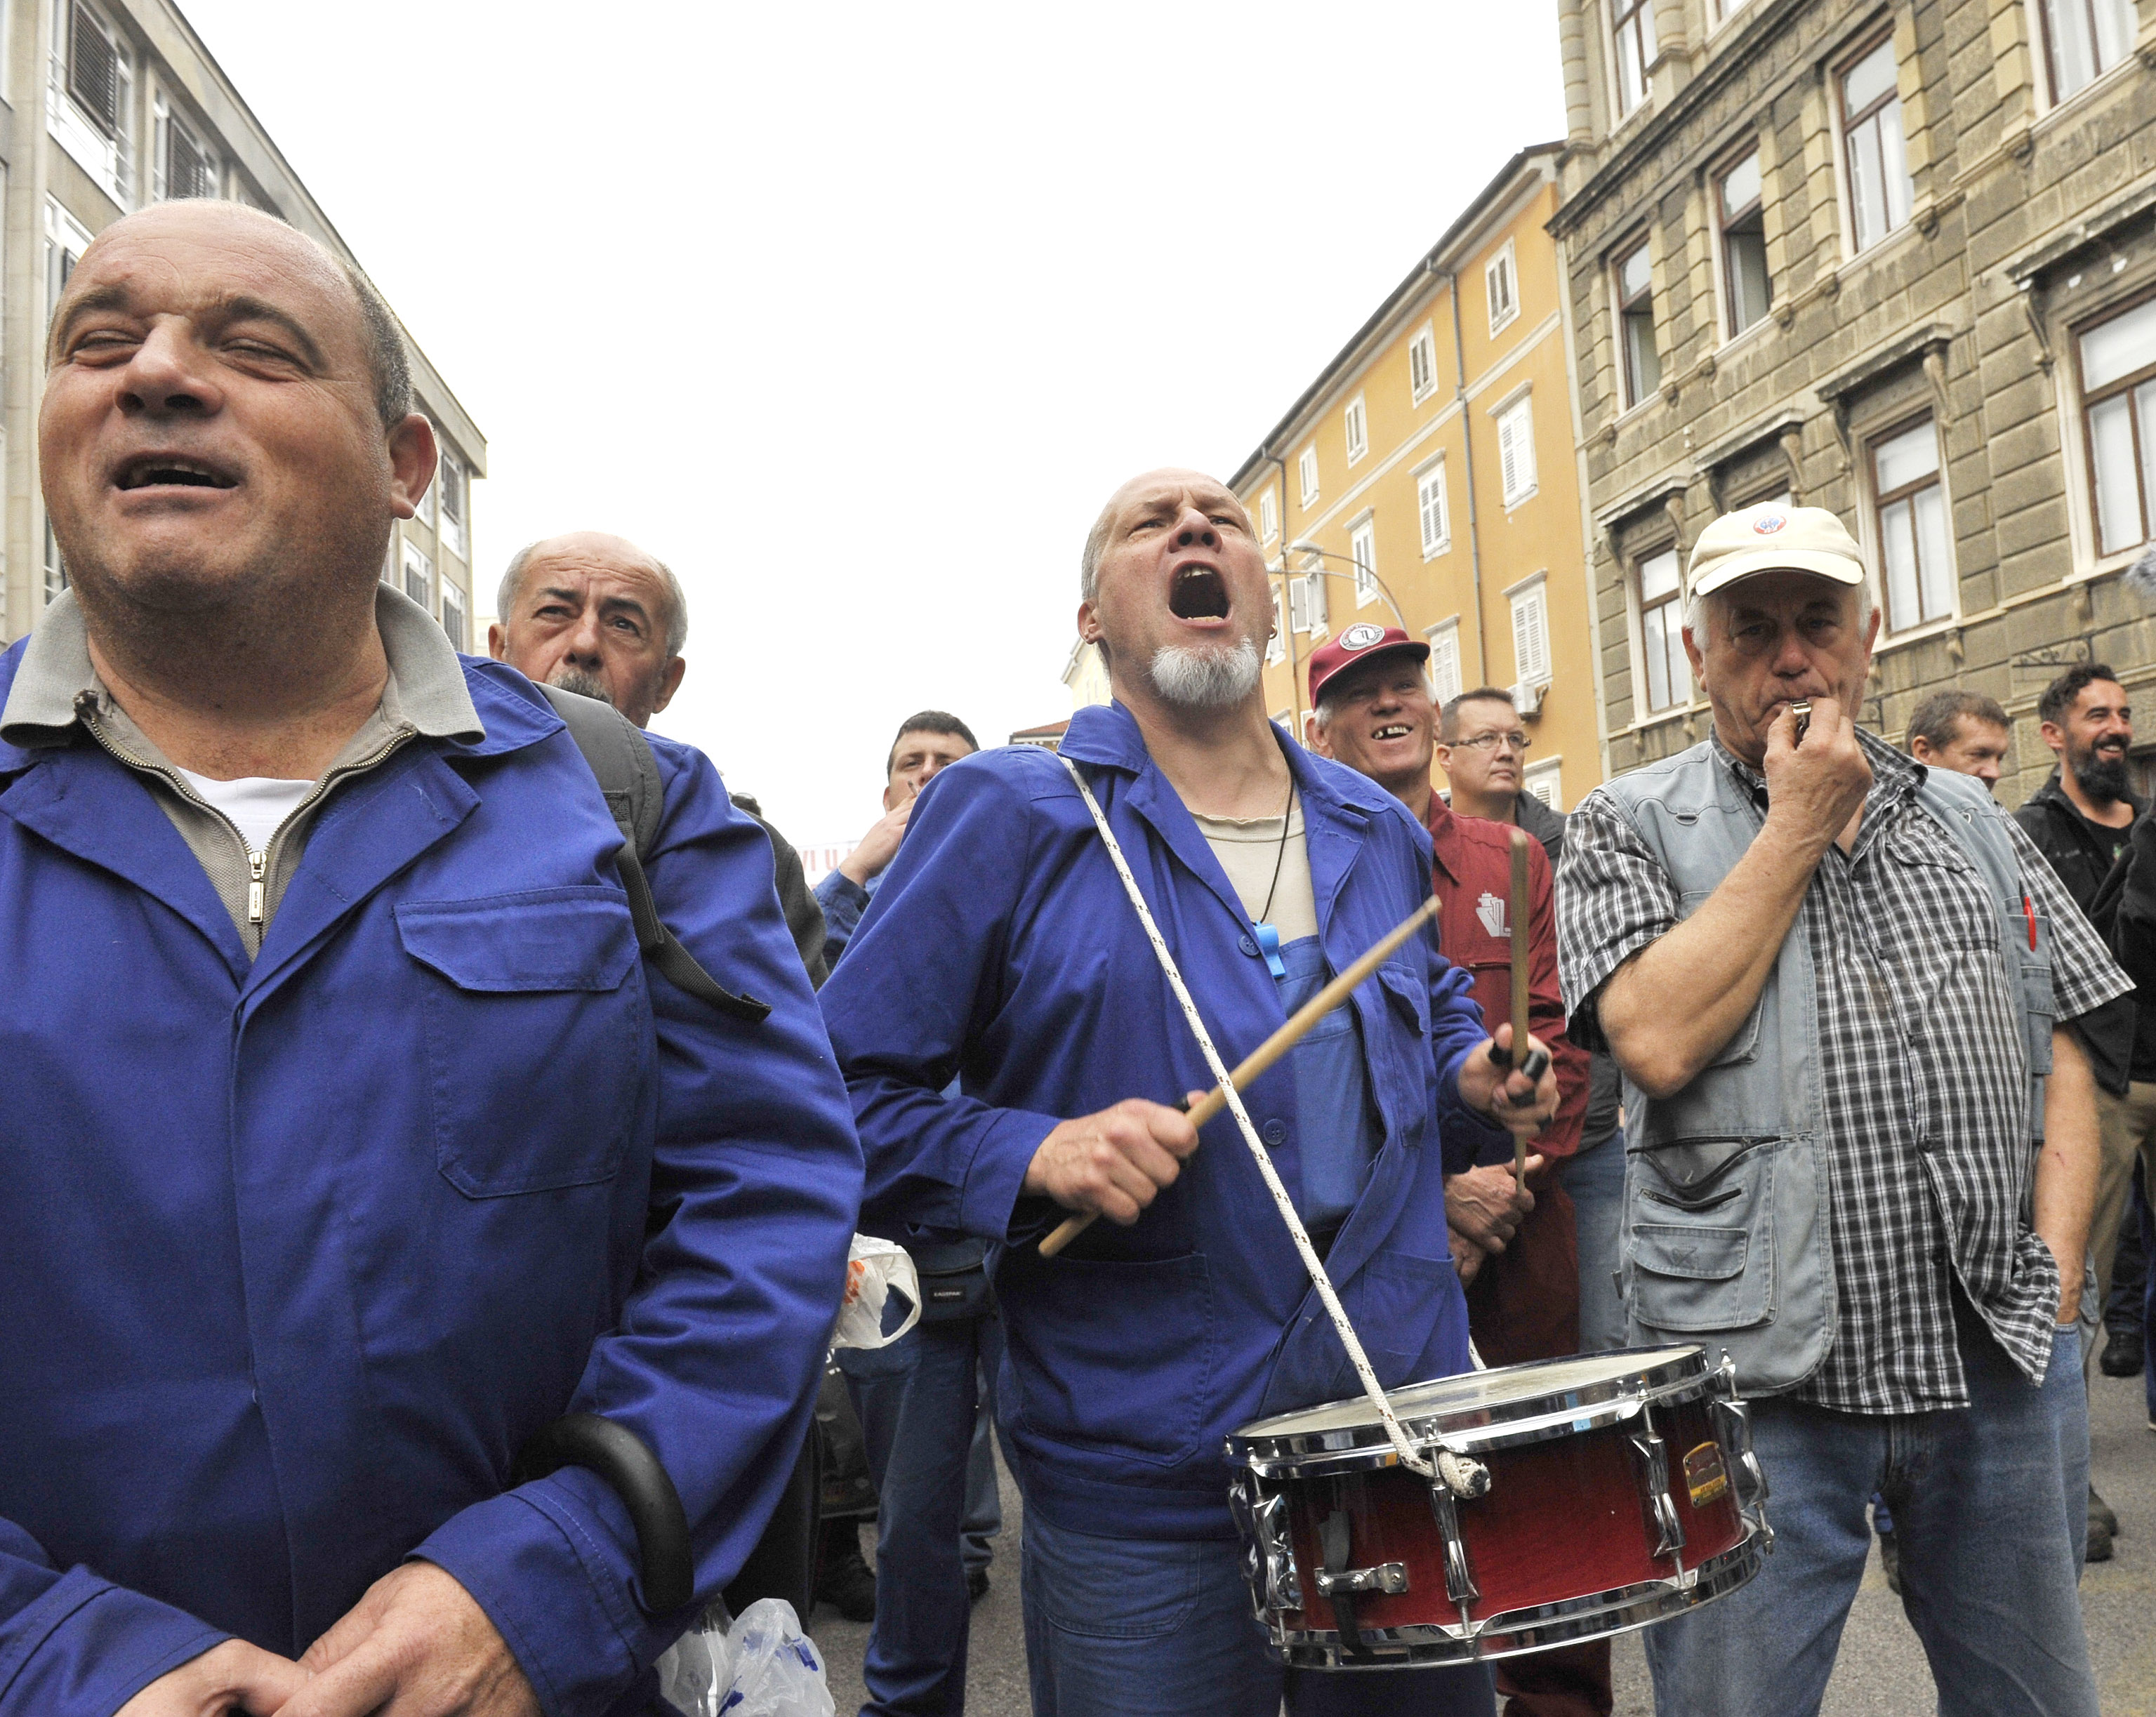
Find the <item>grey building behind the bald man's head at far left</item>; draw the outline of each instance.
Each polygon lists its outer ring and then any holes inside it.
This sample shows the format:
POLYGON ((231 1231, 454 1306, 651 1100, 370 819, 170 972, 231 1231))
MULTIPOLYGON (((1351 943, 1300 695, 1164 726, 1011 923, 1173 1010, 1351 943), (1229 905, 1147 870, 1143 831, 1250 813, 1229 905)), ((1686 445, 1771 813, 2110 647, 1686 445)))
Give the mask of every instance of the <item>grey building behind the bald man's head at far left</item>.
MULTIPOLYGON (((0 4, 0 645, 67 589, 37 481, 45 324, 75 259, 123 214, 183 196, 267 209, 358 261, 172 0, 0 4)), ((472 481, 487 440, 405 336, 412 388, 442 447, 418 518, 390 533, 382 576, 457 649, 492 593, 472 591, 472 481)))

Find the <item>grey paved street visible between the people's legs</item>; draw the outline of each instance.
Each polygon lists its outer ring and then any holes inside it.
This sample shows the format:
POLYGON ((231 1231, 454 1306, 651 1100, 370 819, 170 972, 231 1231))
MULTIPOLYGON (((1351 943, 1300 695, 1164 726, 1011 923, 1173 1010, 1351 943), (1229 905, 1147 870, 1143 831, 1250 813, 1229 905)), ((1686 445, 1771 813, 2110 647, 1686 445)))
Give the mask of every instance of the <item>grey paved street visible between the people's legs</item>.
MULTIPOLYGON (((2156 1717, 2156 1432, 2147 1428, 2141 1378, 2100 1376, 2091 1398, 2096 1488, 2119 1512, 2111 1562, 2081 1583, 2104 1717, 2156 1717)), ((1018 1613, 1018 1493, 1003 1480, 1005 1538, 985 1598, 972 1611, 972 1665, 966 1682, 972 1717, 1026 1717, 1026 1648, 1018 1613)), ((869 1629, 824 1609, 815 1639, 830 1659, 841 1717, 860 1711, 860 1654, 869 1629)), ((1651 1717, 1654 1693, 1639 1637, 1617 1642, 1617 1717, 1651 1717)), ((1932 1676, 1917 1635, 1874 1557, 1841 1637, 1841 1663, 1826 1691, 1824 1717, 1932 1717, 1932 1676)), ((1731 1717, 1740 1717, 1731 1713, 1731 1717)))

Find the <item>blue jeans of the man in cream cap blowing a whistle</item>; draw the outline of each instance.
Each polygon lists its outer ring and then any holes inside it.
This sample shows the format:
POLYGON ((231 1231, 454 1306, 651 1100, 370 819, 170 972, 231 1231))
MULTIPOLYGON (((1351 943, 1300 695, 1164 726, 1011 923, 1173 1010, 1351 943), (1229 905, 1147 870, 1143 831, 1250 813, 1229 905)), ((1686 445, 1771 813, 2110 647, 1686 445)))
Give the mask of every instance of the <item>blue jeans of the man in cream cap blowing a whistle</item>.
POLYGON ((1731 1596, 1647 1629, 1658 1717, 1818 1713, 1865 1572, 1874 1491, 1893 1508, 1902 1609, 1940 1717, 2098 1717, 2074 1590, 2089 1488, 2081 1333, 2057 1331, 2031 1389, 1960 1296, 1955 1324, 1966 1411, 1753 1402, 1774 1551, 1731 1596))

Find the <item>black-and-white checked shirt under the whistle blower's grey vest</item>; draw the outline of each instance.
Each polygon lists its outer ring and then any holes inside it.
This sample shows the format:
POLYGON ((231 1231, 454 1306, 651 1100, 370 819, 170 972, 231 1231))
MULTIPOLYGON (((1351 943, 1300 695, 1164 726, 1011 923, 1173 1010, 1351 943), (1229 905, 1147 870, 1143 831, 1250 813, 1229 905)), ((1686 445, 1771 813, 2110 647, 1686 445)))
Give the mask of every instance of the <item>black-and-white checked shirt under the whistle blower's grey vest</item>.
MULTIPOLYGON (((1966 1406, 1951 1281, 2031 1381, 2050 1363, 2059 1266, 2022 1219, 2027 1057, 1999 971, 1990 884, 1917 802, 1923 766, 1869 733, 1856 850, 1826 850, 1798 923, 1811 938, 1837 1324, 1792 1396, 1850 1413, 1966 1406)), ((1766 815, 1766 779, 1714 740, 1766 815)), ((2018 826, 2022 887, 2050 919, 2057 1018, 2128 988, 2018 826)), ((1595 992, 1677 923, 1677 895, 1617 807, 1589 794, 1565 828, 1559 964, 1572 1031, 1600 1046, 1595 992)), ((2074 1260, 2074 1268, 2081 1260, 2074 1260)))

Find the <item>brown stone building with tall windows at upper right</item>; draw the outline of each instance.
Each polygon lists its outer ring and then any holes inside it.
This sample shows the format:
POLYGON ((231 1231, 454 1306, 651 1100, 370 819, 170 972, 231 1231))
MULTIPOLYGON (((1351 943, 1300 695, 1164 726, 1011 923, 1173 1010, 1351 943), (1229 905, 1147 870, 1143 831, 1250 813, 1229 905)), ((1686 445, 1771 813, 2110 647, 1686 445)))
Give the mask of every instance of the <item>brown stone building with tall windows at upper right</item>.
MULTIPOLYGON (((1705 736, 1677 567, 1787 496, 1865 544, 1863 720, 1940 686, 2050 770, 2063 664, 2156 679, 2156 2, 1561 0, 1563 246, 1608 768, 1705 736)), ((2143 697, 2143 701, 2156 701, 2143 697)))

